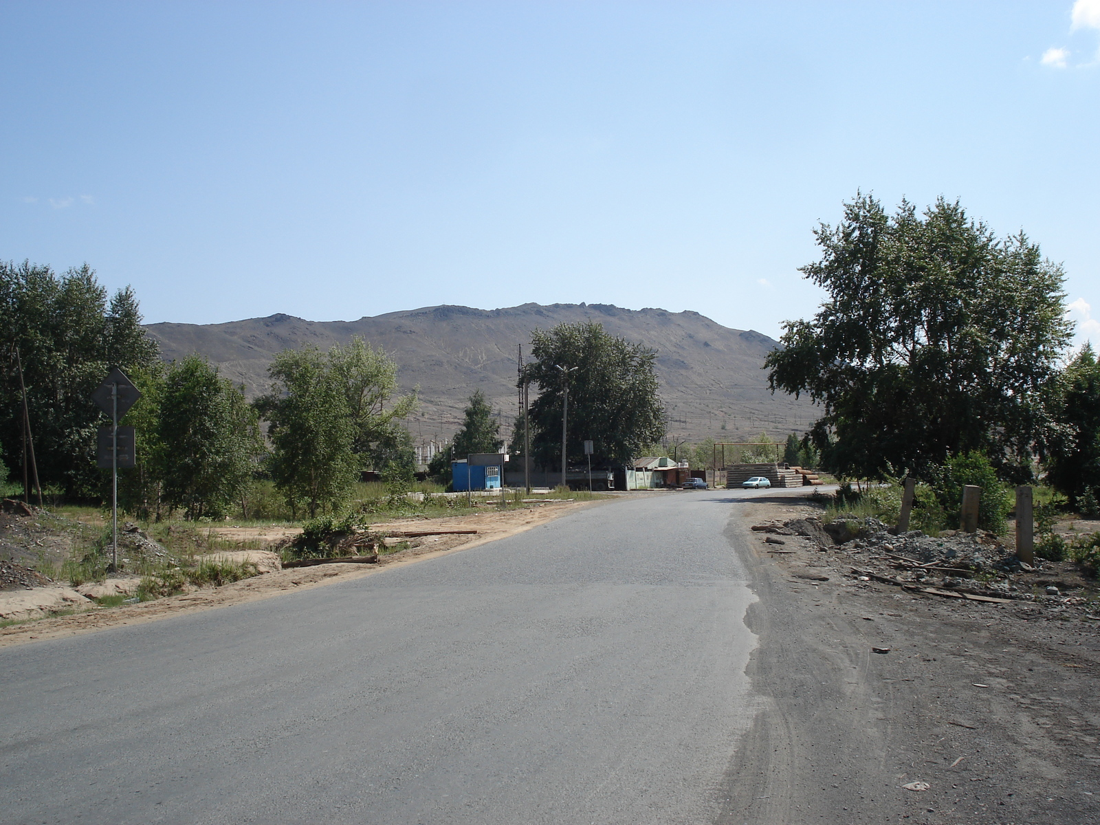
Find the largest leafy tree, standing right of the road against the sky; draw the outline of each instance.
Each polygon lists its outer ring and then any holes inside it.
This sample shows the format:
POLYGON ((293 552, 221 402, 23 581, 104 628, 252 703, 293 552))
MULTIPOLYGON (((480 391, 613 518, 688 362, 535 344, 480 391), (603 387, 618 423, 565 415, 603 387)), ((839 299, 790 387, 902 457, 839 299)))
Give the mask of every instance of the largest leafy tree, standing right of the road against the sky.
POLYGON ((944 199, 888 216, 857 195, 815 235, 822 257, 802 272, 829 297, 813 320, 784 324, 766 367, 772 391, 822 405, 811 435, 826 469, 921 474, 980 451, 1003 477, 1026 479, 1069 340, 1062 268, 1023 233, 999 241, 944 199))

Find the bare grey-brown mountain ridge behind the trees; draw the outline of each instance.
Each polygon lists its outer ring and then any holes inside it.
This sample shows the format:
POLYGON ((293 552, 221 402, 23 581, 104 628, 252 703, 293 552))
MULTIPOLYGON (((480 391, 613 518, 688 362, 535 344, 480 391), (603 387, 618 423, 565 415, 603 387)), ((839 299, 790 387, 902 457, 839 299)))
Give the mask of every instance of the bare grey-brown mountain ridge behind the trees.
POLYGON ((590 320, 657 350, 670 438, 710 436, 732 441, 761 429, 781 436, 802 432, 814 418, 805 399, 768 391, 761 365, 777 341, 752 330, 723 327, 690 310, 632 310, 606 304, 438 306, 356 321, 307 321, 277 314, 228 323, 152 323, 145 329, 165 359, 205 355, 226 377, 244 384, 250 397, 266 391, 267 367, 283 349, 314 344, 324 350, 362 336, 397 362, 403 388, 419 385, 421 408, 410 417, 409 427, 415 439, 426 442, 450 437, 475 389, 502 411, 502 430, 507 431, 517 408, 517 346, 524 344, 529 356, 532 330, 590 320))

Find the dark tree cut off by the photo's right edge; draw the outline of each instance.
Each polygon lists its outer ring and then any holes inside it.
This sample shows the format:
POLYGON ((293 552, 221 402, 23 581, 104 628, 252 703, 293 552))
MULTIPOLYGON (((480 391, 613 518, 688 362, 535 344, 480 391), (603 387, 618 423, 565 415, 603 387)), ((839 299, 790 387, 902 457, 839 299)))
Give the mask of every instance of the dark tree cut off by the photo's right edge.
POLYGON ((1046 444, 1046 479, 1080 507, 1085 496, 1096 499, 1100 492, 1100 363, 1089 344, 1058 376, 1050 396, 1056 426, 1046 444))

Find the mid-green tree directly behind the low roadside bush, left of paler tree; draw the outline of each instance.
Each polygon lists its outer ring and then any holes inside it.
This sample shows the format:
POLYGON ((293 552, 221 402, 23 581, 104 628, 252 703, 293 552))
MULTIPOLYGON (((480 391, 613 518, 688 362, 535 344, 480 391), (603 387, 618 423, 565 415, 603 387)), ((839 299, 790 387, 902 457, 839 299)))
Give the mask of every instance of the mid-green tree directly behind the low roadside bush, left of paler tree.
POLYGON ((255 402, 270 422, 275 486, 295 515, 305 507, 310 518, 348 501, 361 463, 346 385, 329 366, 316 346, 284 350, 268 369, 271 393, 255 402))

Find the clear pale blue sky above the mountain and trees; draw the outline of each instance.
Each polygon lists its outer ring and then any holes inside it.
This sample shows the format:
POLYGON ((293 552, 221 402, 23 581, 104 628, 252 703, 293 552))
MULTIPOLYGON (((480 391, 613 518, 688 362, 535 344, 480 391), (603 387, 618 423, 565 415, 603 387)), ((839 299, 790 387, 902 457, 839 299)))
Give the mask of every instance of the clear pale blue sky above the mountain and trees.
POLYGON ((436 304, 780 333, 857 189, 1064 263, 1100 341, 1100 0, 0 4, 0 258, 147 321, 436 304))

